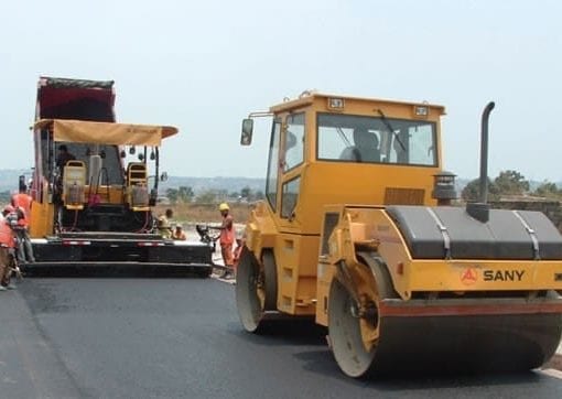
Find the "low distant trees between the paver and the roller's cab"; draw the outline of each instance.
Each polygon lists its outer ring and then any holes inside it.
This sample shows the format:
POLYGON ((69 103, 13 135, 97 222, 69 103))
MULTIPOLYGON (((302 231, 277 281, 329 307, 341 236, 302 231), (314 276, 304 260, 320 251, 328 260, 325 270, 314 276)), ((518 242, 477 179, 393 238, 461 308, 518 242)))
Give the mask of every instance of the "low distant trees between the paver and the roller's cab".
POLYGON ((166 197, 172 204, 203 203, 210 204, 221 201, 253 202, 263 199, 264 194, 261 191, 253 191, 246 186, 239 192, 228 192, 227 190, 205 190, 195 194, 190 186, 171 187, 166 190, 166 197))

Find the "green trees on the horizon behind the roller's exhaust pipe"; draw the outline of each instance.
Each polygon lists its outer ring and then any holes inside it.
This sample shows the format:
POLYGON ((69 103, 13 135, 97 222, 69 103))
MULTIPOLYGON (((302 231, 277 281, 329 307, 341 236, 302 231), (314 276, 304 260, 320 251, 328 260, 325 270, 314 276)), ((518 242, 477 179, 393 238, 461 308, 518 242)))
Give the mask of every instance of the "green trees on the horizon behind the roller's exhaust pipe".
MULTIPOLYGON (((478 199, 479 180, 471 181, 462 191, 461 197, 464 201, 478 199)), ((502 196, 531 195, 549 199, 562 199, 562 190, 556 184, 543 181, 536 190, 530 190, 530 184, 525 176, 512 170, 501 171, 494 180, 488 179, 488 198, 498 201, 502 196)))

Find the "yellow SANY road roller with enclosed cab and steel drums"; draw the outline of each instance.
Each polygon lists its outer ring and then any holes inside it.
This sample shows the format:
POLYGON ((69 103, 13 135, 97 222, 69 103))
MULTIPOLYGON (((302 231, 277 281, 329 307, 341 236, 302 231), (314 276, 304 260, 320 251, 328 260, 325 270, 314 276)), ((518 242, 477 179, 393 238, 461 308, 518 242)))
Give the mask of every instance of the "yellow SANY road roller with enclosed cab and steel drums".
POLYGON ((562 334, 562 236, 542 214, 452 206, 445 109, 303 93, 272 120, 266 199, 245 230, 236 302, 248 332, 314 319, 352 377, 540 367, 562 334))

